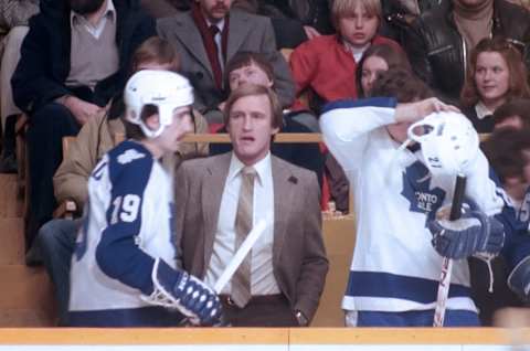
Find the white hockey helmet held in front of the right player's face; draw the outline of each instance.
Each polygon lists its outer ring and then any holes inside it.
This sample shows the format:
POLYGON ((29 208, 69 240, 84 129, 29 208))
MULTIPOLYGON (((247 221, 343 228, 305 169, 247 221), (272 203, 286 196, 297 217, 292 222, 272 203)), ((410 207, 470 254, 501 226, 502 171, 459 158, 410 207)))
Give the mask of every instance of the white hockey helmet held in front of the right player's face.
POLYGON ((407 134, 422 146, 425 166, 433 174, 464 172, 478 155, 477 131, 459 113, 433 113, 409 127, 407 134))

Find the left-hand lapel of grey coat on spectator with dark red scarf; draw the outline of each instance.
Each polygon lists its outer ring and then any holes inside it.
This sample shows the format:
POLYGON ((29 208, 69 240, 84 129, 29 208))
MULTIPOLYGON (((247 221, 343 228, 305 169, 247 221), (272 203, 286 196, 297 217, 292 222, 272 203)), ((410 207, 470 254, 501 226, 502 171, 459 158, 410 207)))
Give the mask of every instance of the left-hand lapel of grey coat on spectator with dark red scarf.
POLYGON ((213 77, 213 71, 208 60, 206 50, 204 49, 204 43, 202 42, 201 33, 197 28, 191 14, 181 15, 177 19, 177 25, 174 26, 177 38, 180 40, 182 45, 187 49, 190 55, 194 56, 201 65, 210 72, 213 77))

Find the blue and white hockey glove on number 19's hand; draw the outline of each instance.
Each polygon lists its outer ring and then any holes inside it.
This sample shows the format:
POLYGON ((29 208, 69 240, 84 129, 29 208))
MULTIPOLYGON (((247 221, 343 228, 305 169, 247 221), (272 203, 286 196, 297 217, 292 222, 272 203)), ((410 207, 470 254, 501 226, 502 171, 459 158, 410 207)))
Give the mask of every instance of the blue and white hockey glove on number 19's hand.
POLYGON ((148 304, 178 309, 195 326, 220 323, 222 305, 218 295, 194 276, 158 258, 152 267, 152 294, 144 298, 148 304))

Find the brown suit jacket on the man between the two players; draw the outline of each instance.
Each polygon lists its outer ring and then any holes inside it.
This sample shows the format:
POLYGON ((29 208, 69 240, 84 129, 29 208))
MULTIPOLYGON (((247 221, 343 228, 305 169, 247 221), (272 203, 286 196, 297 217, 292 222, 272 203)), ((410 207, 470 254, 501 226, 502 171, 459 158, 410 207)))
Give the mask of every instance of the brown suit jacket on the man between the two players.
MULTIPOLYGON (((231 155, 184 161, 176 174, 176 231, 182 265, 200 278, 212 256, 231 155)), ((293 310, 311 320, 328 272, 317 178, 274 156, 272 168, 274 276, 293 310)))

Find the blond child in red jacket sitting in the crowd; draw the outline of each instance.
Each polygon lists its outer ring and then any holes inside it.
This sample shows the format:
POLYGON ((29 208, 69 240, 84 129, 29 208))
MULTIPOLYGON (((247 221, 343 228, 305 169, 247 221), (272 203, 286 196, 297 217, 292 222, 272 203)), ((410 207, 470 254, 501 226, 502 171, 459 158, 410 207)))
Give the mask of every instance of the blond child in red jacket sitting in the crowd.
POLYGON ((379 0, 335 0, 331 17, 337 34, 315 38, 290 55, 296 96, 312 91, 324 102, 358 96, 356 70, 372 44, 400 45, 377 34, 381 23, 379 0))

